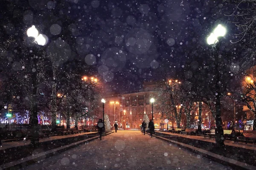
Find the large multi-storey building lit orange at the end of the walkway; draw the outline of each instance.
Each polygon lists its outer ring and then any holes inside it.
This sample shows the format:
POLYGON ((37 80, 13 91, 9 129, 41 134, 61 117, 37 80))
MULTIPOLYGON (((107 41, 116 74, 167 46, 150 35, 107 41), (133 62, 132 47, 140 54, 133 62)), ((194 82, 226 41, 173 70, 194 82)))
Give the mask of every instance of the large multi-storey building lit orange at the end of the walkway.
MULTIPOLYGON (((111 125, 116 122, 122 128, 140 128, 144 114, 152 119, 150 99, 156 98, 156 87, 155 82, 145 82, 143 90, 105 96, 105 113, 108 114, 111 125)), ((163 124, 161 113, 154 108, 153 103, 154 125, 155 128, 160 128, 160 124, 163 124)))

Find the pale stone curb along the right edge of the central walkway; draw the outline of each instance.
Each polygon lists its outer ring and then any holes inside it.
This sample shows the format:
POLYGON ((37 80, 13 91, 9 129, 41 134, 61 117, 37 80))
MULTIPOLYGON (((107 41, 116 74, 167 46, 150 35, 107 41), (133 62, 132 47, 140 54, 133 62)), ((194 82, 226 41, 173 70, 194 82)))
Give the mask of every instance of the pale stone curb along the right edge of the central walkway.
POLYGON ((216 162, 224 164, 224 165, 228 165, 228 166, 230 166, 234 169, 256 170, 256 167, 254 167, 252 165, 245 164, 243 162, 236 161, 234 159, 229 159, 227 157, 209 152, 207 150, 200 149, 198 147, 193 147, 193 146, 190 146, 188 144, 183 144, 183 143, 180 143, 180 142, 177 142, 177 141, 172 141, 170 139, 166 139, 166 138, 163 138, 163 137, 160 137, 160 136, 156 136, 156 138, 164 140, 166 142, 175 143, 180 147, 186 148, 187 150, 190 150, 190 151, 195 152, 195 153, 200 153, 202 156, 204 156, 206 158, 212 159, 213 161, 216 161, 216 162))

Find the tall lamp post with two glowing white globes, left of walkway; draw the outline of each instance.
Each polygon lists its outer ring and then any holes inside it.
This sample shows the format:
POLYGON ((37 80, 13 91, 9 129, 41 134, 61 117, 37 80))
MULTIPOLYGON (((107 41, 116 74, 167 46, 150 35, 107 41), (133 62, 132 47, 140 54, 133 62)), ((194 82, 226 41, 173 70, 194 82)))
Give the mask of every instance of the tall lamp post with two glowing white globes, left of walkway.
MULTIPOLYGON (((35 28, 35 26, 32 26, 27 30, 27 40, 32 40, 31 45, 29 47, 34 46, 33 44, 44 46, 47 44, 47 37, 45 35, 39 34, 38 30, 35 28), (30 39, 32 37, 32 39, 30 39)), ((29 42, 30 43, 30 42, 29 42)), ((32 57, 32 74, 31 74, 31 81, 32 81, 32 93, 30 95, 30 130, 31 130, 31 140, 30 144, 35 147, 35 144, 39 141, 39 132, 38 132, 38 101, 37 101, 37 91, 38 91, 38 74, 37 74, 37 57, 32 57), (35 71, 33 71, 35 70, 35 71)), ((55 97, 55 96, 54 96, 55 97)), ((52 120, 54 124, 56 125, 56 117, 52 120)))

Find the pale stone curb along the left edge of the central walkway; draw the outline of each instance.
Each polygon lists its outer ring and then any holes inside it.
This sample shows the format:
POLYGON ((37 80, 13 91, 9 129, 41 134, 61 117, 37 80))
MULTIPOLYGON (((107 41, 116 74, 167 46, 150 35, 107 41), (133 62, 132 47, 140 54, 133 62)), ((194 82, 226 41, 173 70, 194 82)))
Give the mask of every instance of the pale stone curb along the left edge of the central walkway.
MULTIPOLYGON (((106 133, 106 135, 109 135, 111 133, 113 133, 113 132, 106 133)), ((71 149, 73 147, 79 146, 80 144, 83 144, 85 142, 93 141, 95 139, 99 139, 99 136, 95 136, 95 137, 92 137, 92 138, 89 138, 89 139, 84 139, 84 140, 81 140, 79 142, 75 142, 75 143, 72 143, 72 144, 67 144, 63 147, 58 147, 58 148, 55 148, 55 149, 52 149, 52 150, 47 150, 46 152, 38 153, 36 155, 28 156, 26 158, 19 159, 17 161, 12 161, 12 162, 9 162, 9 163, 6 163, 6 164, 2 164, 2 165, 0 165, 0 170, 11 169, 11 168, 12 169, 17 169, 17 168, 26 167, 29 164, 33 164, 37 161, 41 161, 41 159, 46 159, 49 156, 56 155, 58 153, 64 152, 65 150, 68 150, 68 149, 71 149)))

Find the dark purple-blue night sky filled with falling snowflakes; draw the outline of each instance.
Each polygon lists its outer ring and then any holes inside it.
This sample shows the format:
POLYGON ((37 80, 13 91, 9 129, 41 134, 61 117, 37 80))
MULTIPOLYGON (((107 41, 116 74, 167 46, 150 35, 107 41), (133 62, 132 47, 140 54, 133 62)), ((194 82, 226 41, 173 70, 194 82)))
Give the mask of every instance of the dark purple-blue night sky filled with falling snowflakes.
POLYGON ((230 7, 212 0, 1 3, 1 46, 9 35, 22 40, 27 28, 35 25, 49 38, 46 51, 57 51, 60 65, 73 59, 92 65, 108 91, 114 92, 140 89, 143 81, 156 80, 161 68, 168 68, 175 78, 190 50, 198 45, 208 48, 206 37, 218 23, 228 27, 227 47, 234 38, 223 13, 230 7))

